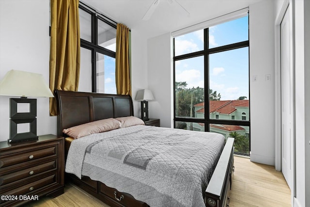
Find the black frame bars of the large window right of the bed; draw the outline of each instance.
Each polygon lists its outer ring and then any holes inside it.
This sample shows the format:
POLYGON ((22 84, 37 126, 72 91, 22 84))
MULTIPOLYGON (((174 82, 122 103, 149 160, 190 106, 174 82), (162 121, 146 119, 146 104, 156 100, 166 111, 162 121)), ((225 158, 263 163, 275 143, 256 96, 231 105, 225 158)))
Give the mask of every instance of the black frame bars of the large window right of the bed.
MULTIPOLYGON (((240 17, 241 18, 241 17, 240 17)), ((249 30, 249 14, 248 14, 248 30, 249 30)), ((238 43, 233 43, 229 45, 224 45, 216 48, 209 48, 209 28, 205 28, 203 30, 204 33, 204 48, 203 50, 197 51, 197 52, 192 52, 192 53, 187 53, 187 54, 182 54, 175 56, 175 38, 173 38, 173 127, 175 128, 176 122, 193 122, 193 123, 203 123, 204 124, 204 131, 208 132, 210 131, 210 125, 211 124, 224 124, 224 125, 236 125, 236 126, 246 126, 249 127, 249 132, 250 132, 250 112, 249 112, 249 120, 224 120, 224 119, 211 119, 210 118, 210 98, 209 98, 209 55, 214 54, 217 52, 224 52, 224 51, 229 51, 233 49, 239 49, 239 48, 246 48, 248 47, 248 70, 250 70, 249 67, 249 36, 248 40, 238 42, 238 43), (189 58, 194 58, 194 57, 199 57, 203 56, 204 57, 204 118, 196 118, 196 117, 178 117, 176 116, 176 88, 175 88, 175 62, 179 60, 185 60, 189 58), (208 115, 206 115, 208 114, 208 115)), ((248 31, 249 34, 249 31, 248 31)), ((249 76, 249 71, 248 71, 248 76, 249 76)), ((248 87, 249 87, 249 81, 250 78, 248 77, 248 87)), ((249 88, 248 88, 249 91, 249 88)), ((249 97, 250 97, 250 91, 249 91, 249 97)), ((250 100, 250 99, 249 99, 250 100)), ((250 103, 249 103, 249 111, 250 111, 250 103)), ((251 146, 251 140, 249 139, 249 151, 250 146, 251 146)), ((247 155, 244 153, 236 153, 235 154, 241 154, 241 155, 247 155)))

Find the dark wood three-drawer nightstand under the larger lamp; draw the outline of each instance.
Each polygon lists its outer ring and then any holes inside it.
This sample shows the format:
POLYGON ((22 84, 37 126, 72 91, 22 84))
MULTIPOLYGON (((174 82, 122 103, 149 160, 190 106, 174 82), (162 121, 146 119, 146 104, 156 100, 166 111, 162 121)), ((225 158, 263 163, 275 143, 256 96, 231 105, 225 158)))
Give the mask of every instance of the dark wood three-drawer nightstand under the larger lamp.
POLYGON ((34 141, 0 142, 0 207, 56 197, 63 188, 63 137, 49 134, 34 141))

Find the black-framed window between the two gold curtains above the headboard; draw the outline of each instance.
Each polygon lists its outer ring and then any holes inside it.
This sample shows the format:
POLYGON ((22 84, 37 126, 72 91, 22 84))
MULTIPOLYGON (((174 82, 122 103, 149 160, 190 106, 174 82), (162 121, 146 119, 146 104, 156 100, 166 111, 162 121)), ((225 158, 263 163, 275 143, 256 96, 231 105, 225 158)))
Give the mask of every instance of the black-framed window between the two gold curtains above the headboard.
POLYGON ((116 94, 116 22, 79 4, 80 81, 78 91, 116 94))

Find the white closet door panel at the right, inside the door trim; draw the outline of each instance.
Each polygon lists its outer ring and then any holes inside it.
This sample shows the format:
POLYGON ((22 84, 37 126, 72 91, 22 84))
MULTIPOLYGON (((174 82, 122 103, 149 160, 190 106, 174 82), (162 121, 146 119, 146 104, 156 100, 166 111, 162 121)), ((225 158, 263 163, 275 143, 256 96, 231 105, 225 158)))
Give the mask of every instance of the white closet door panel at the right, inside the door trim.
POLYGON ((282 173, 293 184, 293 69, 290 63, 290 18, 287 10, 281 22, 281 157, 282 173))

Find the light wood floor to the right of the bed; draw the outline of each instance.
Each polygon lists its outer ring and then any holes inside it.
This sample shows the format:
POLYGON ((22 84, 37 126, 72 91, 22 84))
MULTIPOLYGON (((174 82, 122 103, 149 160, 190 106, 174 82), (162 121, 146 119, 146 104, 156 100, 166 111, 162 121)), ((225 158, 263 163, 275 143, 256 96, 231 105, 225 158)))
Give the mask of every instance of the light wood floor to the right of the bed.
POLYGON ((234 157, 229 207, 291 207, 291 191, 274 166, 234 157))

